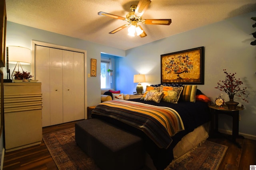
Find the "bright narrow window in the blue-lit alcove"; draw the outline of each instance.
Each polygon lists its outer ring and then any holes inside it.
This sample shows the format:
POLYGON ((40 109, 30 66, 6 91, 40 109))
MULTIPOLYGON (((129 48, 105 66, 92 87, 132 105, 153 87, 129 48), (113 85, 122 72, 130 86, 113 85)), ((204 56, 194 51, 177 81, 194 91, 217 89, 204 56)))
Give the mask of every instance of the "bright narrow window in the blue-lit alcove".
POLYGON ((108 75, 108 68, 110 60, 101 59, 100 62, 100 88, 110 88, 110 76, 108 75))

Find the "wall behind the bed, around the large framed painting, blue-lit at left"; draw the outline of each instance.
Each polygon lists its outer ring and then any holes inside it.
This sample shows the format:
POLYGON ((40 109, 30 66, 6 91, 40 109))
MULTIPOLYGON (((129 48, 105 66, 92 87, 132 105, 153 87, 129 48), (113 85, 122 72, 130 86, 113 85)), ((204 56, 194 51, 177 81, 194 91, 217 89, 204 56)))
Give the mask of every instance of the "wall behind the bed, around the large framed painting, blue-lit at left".
MULTIPOLYGON (((116 59, 116 88, 123 93, 135 92, 137 84, 133 83, 133 75, 138 73, 146 74, 144 90, 147 84, 159 84, 160 55, 204 46, 205 82, 198 85, 198 89, 214 101, 221 93, 214 87, 219 80, 224 80, 223 69, 236 72, 236 78, 242 79, 250 93, 249 103, 234 98, 245 106, 245 110, 240 111, 239 132, 256 139, 256 46, 250 45, 255 40, 250 34, 256 31, 252 27, 255 21, 250 18, 255 16, 256 12, 248 13, 127 50, 126 57, 116 59)), ((229 100, 227 94, 224 99, 229 100)), ((220 128, 230 131, 231 117, 222 116, 220 128)))

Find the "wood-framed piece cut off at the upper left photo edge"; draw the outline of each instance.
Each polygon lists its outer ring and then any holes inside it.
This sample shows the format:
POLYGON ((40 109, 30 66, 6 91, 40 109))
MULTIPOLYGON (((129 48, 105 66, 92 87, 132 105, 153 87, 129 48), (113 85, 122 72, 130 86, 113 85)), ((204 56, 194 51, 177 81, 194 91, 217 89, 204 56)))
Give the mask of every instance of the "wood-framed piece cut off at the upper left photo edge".
POLYGON ((0 39, 2 41, 2 45, 0 47, 1 57, 0 57, 0 67, 5 66, 5 40, 6 40, 6 7, 5 0, 0 2, 0 39))

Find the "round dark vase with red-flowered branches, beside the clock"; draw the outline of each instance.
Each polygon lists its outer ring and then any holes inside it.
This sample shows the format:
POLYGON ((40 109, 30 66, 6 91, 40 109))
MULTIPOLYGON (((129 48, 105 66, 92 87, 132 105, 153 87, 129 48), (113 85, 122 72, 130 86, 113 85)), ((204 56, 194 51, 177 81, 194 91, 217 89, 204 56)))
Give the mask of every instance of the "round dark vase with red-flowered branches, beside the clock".
POLYGON ((220 80, 220 82, 217 83, 218 86, 215 88, 218 88, 220 91, 224 91, 228 94, 230 101, 225 102, 225 104, 228 106, 228 109, 234 110, 239 104, 238 102, 234 101, 234 96, 238 96, 245 102, 249 102, 243 97, 246 96, 247 98, 248 94, 245 92, 246 87, 241 87, 243 82, 240 80, 240 78, 235 78, 236 73, 228 73, 226 69, 224 69, 224 73, 226 74, 225 80, 220 80))

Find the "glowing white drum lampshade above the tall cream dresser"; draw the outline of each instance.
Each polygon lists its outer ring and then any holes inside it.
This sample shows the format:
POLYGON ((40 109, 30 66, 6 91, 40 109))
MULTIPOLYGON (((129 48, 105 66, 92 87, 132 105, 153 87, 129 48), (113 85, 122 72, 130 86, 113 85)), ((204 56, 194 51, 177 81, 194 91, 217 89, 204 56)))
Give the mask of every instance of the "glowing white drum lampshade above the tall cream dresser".
POLYGON ((11 64, 30 64, 31 51, 25 47, 8 46, 8 59, 11 64))

